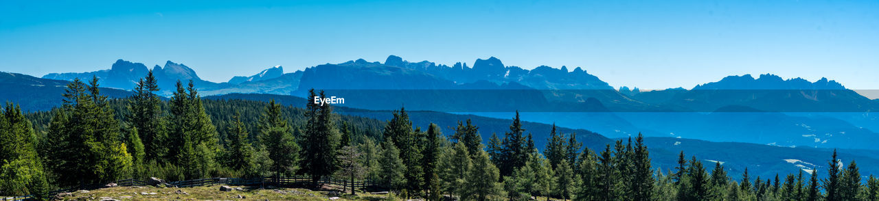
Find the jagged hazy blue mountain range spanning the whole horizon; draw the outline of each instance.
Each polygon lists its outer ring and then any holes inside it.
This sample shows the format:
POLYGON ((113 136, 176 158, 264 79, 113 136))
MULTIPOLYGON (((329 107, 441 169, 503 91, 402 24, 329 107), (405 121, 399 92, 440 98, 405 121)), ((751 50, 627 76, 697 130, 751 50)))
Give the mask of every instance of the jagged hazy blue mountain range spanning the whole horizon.
MULTIPOLYGON (((356 59, 285 73, 274 66, 228 82, 201 80, 183 64, 154 66, 159 94, 192 80, 200 94, 282 94, 304 97, 311 88, 345 98, 346 107, 508 116, 520 111, 528 121, 557 122, 609 137, 643 133, 713 142, 752 142, 775 146, 877 149, 879 100, 870 100, 834 80, 783 80, 773 74, 729 76, 692 89, 640 91, 614 89, 583 68, 505 66, 497 58, 476 59, 473 66, 410 62, 389 56, 383 63, 356 59)), ((117 60, 110 69, 88 73, 49 73, 43 80, 91 79, 102 87, 130 90, 149 69, 117 60)), ((4 81, 16 83, 24 75, 4 81)), ((26 78, 36 79, 36 78, 26 78)), ((26 80, 25 79, 25 80, 26 80)), ((31 86, 33 88, 34 85, 31 86)), ((13 90, 4 87, 3 90, 13 90)), ((47 89, 48 90, 48 89, 47 89)), ((39 88, 30 91, 40 91, 39 88)), ((60 104, 54 89, 26 108, 45 110, 60 104)), ((17 100, 7 95, 5 100, 17 100)), ((20 100, 20 99, 18 99, 20 100)))

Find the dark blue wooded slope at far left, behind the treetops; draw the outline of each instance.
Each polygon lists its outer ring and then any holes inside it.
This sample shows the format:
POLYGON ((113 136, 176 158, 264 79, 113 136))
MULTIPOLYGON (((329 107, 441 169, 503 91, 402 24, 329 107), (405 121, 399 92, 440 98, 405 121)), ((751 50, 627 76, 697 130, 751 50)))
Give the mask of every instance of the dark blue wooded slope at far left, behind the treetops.
MULTIPOLYGON (((84 80, 87 83, 88 80, 84 80)), ((36 78, 19 73, 0 72, 0 102, 12 102, 24 111, 48 110, 62 104, 62 94, 68 81, 36 78)), ((101 94, 110 98, 123 98, 131 93, 101 87, 101 94)))

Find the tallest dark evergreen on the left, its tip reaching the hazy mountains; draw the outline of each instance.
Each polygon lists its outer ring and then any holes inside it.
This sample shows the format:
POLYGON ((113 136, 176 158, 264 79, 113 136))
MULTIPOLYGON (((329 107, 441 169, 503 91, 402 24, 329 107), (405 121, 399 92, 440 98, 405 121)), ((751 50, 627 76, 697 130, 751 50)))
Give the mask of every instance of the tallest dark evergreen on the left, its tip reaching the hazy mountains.
POLYGON ((155 94, 158 91, 158 80, 153 76, 153 71, 149 70, 145 78, 138 80, 134 94, 128 98, 127 119, 142 139, 145 150, 143 161, 164 161, 168 153, 162 100, 155 94))

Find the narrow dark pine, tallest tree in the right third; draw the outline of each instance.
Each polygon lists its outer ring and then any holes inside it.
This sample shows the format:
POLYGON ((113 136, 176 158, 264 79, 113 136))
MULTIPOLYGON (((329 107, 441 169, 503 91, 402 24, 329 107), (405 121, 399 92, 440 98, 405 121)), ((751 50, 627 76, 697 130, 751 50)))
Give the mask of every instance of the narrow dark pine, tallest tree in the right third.
POLYGON ((630 183, 632 198, 633 200, 650 200, 653 197, 653 170, 650 170, 650 153, 644 146, 644 137, 640 133, 635 139, 635 153, 632 162, 634 165, 634 174, 630 183))

